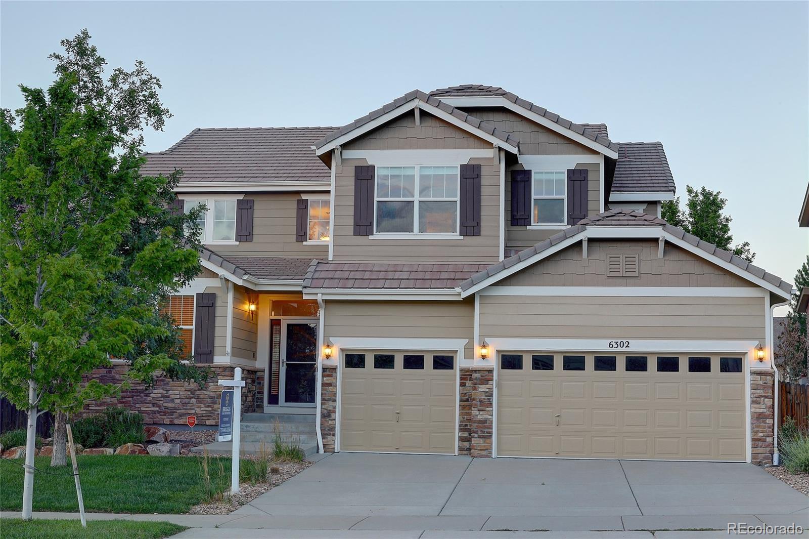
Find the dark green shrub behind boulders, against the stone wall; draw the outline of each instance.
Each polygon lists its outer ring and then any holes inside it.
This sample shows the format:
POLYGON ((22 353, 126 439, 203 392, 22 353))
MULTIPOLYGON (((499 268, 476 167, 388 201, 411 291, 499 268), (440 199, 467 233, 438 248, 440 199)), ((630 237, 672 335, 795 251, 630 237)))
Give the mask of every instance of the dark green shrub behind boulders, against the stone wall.
POLYGON ((146 441, 143 416, 114 406, 101 414, 77 419, 71 428, 74 442, 85 448, 117 448, 146 441))

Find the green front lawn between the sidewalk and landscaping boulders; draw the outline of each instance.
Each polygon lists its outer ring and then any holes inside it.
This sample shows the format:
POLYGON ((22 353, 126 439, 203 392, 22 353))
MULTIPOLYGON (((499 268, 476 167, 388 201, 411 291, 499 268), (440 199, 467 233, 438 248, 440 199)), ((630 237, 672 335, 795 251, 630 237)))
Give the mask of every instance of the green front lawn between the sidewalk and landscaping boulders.
MULTIPOLYGON (((201 459, 192 456, 79 455, 77 459, 88 512, 185 513, 205 499, 201 459)), ((22 464, 23 460, 16 462, 22 464)), ((78 511, 70 465, 53 469, 49 456, 38 456, 36 467, 66 475, 36 473, 34 511, 78 511)), ((231 459, 211 457, 209 469, 212 490, 227 490, 231 459)), ((0 510, 20 511, 22 504, 23 468, 0 460, 0 510)))

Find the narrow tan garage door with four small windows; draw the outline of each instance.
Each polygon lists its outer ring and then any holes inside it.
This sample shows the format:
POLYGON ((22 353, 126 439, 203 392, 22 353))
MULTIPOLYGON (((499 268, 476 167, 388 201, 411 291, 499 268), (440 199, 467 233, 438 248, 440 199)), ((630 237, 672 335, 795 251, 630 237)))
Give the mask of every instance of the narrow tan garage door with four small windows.
POLYGON ((341 361, 341 451, 455 453, 455 354, 345 350, 341 361))

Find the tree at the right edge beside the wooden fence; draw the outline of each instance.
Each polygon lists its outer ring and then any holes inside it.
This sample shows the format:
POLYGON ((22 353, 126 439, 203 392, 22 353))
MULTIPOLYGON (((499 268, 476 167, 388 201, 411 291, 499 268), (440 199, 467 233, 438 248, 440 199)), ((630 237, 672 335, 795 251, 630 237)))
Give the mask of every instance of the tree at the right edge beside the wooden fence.
POLYGON ((786 325, 778 335, 778 349, 775 361, 784 371, 786 380, 797 380, 807 376, 809 369, 809 337, 807 337, 807 315, 798 312, 798 297, 803 287, 809 287, 809 255, 795 274, 797 293, 792 295, 790 312, 786 315, 786 325))

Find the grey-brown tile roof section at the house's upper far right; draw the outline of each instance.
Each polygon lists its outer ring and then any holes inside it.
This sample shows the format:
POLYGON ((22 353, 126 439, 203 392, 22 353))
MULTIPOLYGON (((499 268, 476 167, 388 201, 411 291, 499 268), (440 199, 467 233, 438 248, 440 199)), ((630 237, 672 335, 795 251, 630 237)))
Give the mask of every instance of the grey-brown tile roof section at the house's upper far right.
POLYGON ((619 142, 612 193, 675 193, 660 142, 619 142))

